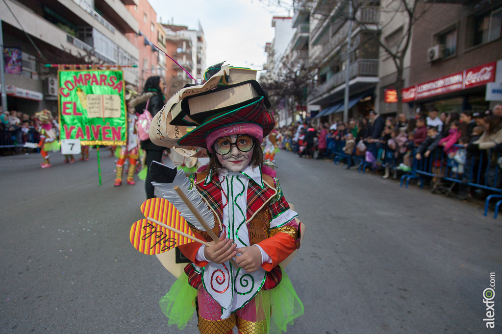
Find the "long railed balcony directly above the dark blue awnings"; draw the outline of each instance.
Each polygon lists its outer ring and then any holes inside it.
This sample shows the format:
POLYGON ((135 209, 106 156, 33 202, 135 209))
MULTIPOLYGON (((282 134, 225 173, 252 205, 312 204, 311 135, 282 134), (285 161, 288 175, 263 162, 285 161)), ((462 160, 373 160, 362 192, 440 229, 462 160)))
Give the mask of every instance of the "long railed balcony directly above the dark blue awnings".
MULTIPOLYGON (((350 79, 354 79, 356 77, 375 77, 378 81, 378 64, 378 59, 356 60, 354 63, 350 64, 350 79)), ((311 103, 312 100, 317 99, 343 85, 346 81, 346 73, 346 70, 340 71, 314 88, 314 90, 309 94, 309 103, 311 103)))

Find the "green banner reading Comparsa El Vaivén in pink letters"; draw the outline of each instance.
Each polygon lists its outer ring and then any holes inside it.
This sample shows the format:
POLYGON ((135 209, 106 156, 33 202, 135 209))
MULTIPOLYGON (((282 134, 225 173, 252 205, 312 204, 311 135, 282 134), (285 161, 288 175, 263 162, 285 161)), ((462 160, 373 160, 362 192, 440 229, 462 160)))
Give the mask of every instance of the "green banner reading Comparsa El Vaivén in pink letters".
POLYGON ((61 139, 82 145, 127 143, 121 70, 58 71, 61 139))

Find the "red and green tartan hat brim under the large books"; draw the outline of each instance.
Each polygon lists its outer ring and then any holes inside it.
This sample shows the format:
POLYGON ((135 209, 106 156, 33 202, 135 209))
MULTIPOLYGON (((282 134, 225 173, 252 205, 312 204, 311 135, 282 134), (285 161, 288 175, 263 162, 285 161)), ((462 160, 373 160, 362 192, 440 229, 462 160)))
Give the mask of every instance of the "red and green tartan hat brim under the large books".
MULTIPOLYGON (((206 137, 214 130, 231 124, 254 123, 263 129, 267 136, 276 125, 276 120, 267 111, 264 97, 243 107, 209 117, 204 123, 185 134, 178 140, 180 146, 207 147, 206 137)), ((259 138, 257 138, 259 139, 259 138)), ((214 141, 213 141, 214 142, 214 141)))

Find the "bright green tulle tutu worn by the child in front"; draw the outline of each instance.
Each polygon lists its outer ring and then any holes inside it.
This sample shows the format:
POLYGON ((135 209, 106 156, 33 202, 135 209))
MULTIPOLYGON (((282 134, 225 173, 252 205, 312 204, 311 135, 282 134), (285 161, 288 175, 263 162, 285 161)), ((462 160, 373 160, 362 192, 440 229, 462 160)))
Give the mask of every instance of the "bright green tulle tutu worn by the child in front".
MULTIPOLYGON (((188 284, 188 276, 183 273, 169 292, 160 299, 159 305, 169 318, 168 325, 178 325, 184 329, 195 313, 197 290, 188 284)), ((304 312, 303 303, 296 294, 288 274, 282 269, 282 280, 272 290, 260 291, 256 296, 257 310, 263 308, 267 316, 267 333, 281 334, 288 324, 304 312)))

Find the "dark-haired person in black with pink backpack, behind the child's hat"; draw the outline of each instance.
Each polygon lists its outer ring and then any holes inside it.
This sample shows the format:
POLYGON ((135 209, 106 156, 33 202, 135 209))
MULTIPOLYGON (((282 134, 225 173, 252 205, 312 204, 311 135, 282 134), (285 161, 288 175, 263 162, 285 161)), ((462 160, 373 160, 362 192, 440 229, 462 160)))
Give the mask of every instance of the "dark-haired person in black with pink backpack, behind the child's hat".
MULTIPOLYGON (((147 106, 148 111, 152 116, 155 116, 157 112, 162 109, 165 104, 164 98, 164 81, 159 76, 152 76, 145 82, 145 87, 143 88, 143 95, 131 101, 131 106, 135 108, 138 114, 142 114, 147 106)), ((145 179, 145 192, 147 194, 147 200, 154 198, 154 186, 152 186, 152 177, 150 176, 150 164, 152 161, 162 162, 162 152, 164 147, 154 144, 150 138, 147 140, 141 140, 140 147, 147 153, 146 156, 146 167, 147 167, 147 178, 145 179)))

